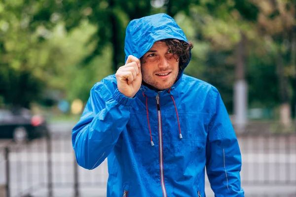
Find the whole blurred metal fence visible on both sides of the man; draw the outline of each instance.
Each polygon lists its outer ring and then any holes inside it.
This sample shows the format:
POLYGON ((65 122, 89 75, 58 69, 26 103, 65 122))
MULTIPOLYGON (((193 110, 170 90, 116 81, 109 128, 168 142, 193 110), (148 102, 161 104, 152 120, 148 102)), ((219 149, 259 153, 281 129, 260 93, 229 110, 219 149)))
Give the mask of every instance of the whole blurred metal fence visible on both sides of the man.
MULTIPOLYGON (((244 132, 237 137, 243 186, 296 186, 295 132, 244 132)), ((0 143, 0 197, 106 196, 107 162, 94 170, 79 167, 70 135, 5 143, 0 143)))

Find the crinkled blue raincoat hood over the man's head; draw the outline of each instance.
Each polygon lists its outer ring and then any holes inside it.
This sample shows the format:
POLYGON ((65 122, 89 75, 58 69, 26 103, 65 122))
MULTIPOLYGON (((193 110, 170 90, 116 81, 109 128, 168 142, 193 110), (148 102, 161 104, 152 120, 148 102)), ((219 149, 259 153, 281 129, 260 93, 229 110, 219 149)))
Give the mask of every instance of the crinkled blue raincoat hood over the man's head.
MULTIPOLYGON (((140 59, 148 52, 154 42, 167 38, 175 38, 188 42, 185 33, 176 21, 167 14, 154 14, 132 20, 126 28, 125 62, 129 55, 140 59)), ((184 65, 184 68, 188 65, 189 61, 184 65)), ((177 79, 181 77, 183 72, 184 69, 180 69, 177 79)))

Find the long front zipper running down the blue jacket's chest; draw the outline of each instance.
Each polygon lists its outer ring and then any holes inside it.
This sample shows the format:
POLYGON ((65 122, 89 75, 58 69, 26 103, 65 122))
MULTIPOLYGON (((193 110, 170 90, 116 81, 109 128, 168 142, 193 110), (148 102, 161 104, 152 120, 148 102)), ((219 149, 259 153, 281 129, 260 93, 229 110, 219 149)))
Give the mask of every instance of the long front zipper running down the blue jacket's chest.
POLYGON ((161 113, 159 104, 159 95, 156 95, 156 106, 158 115, 158 135, 159 135, 159 165, 160 165, 160 182, 163 197, 167 197, 166 189, 164 185, 164 174, 163 174, 163 157, 162 157, 162 131, 161 131, 161 113))

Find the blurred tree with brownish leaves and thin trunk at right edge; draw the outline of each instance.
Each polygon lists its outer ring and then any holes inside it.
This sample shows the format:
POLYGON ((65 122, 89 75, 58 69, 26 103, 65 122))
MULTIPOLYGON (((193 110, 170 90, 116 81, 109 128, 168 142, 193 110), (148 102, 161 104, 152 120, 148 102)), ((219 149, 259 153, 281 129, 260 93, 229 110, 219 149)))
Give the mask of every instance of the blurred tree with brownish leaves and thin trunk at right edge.
POLYGON ((258 32, 268 39, 269 53, 273 54, 276 65, 281 122, 288 126, 291 122, 291 104, 295 105, 296 94, 296 88, 292 88, 296 76, 296 1, 262 0, 256 3, 260 8, 258 32))

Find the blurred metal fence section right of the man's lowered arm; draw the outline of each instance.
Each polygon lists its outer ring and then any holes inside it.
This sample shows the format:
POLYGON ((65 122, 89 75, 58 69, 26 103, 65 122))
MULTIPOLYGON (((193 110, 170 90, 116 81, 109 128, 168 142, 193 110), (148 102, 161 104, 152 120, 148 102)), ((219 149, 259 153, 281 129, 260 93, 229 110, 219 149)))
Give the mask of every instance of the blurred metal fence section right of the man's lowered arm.
POLYGON ((296 186, 296 133, 240 134, 242 185, 296 186))

